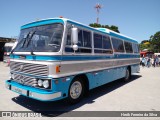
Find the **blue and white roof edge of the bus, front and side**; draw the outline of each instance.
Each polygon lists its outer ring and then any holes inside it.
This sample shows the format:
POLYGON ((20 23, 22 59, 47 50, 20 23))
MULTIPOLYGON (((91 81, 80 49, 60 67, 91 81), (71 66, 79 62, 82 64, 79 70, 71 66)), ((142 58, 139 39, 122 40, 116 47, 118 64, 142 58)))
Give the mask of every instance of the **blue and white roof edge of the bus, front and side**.
POLYGON ((28 24, 25 24, 25 25, 21 26, 21 29, 34 27, 34 26, 39 26, 39 25, 44 25, 44 24, 51 24, 51 23, 55 23, 55 22, 60 22, 60 23, 63 23, 63 24, 65 22, 74 23, 74 24, 76 24, 78 26, 82 26, 82 27, 85 27, 87 29, 90 29, 90 30, 93 30, 93 31, 96 31, 96 32, 106 33, 106 34, 108 34, 108 35, 110 35, 112 37, 117 37, 117 38, 123 39, 125 41, 130 41, 130 42, 138 44, 136 39, 133 39, 133 38, 128 37, 126 35, 123 35, 121 33, 114 32, 114 31, 109 30, 107 28, 93 28, 93 27, 90 27, 88 25, 84 25, 82 23, 79 23, 79 22, 76 22, 76 21, 73 21, 73 20, 70 20, 70 19, 67 19, 67 18, 48 18, 48 19, 42 19, 42 20, 38 20, 38 21, 33 21, 33 22, 30 22, 28 24))

